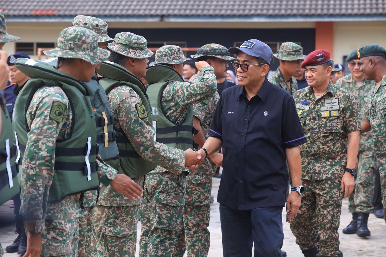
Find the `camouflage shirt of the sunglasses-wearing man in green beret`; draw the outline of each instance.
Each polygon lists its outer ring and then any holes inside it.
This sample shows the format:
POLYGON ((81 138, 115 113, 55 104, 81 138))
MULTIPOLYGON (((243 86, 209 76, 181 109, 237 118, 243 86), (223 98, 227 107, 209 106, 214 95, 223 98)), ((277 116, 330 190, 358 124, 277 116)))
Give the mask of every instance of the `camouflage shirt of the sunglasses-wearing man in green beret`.
MULTIPOLYGON (((357 86, 357 82, 352 77, 352 74, 349 74, 338 79, 335 86, 342 87, 354 94, 358 106, 359 120, 364 119, 367 113, 366 102, 371 101, 369 94, 372 87, 375 86, 375 81, 365 79, 362 85, 357 86)), ((371 131, 361 134, 359 138, 359 151, 374 151, 371 131)))

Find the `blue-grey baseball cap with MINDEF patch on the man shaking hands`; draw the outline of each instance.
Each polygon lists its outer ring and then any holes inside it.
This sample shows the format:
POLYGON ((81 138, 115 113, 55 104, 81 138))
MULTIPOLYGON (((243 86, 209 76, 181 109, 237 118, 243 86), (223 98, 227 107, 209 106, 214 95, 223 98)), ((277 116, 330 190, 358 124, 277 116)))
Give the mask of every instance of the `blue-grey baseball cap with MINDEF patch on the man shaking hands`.
POLYGON ((271 48, 266 43, 257 39, 247 40, 240 47, 233 46, 228 49, 228 52, 232 54, 238 54, 240 51, 247 55, 259 57, 268 64, 271 62, 273 54, 271 48))

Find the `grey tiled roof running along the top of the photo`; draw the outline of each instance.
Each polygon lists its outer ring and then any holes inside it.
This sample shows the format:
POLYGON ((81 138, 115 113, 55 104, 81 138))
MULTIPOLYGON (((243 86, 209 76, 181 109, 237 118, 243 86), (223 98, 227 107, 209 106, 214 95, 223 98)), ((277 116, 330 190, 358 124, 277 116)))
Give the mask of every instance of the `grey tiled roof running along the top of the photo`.
POLYGON ((0 10, 6 17, 379 16, 386 0, 0 0, 0 10))

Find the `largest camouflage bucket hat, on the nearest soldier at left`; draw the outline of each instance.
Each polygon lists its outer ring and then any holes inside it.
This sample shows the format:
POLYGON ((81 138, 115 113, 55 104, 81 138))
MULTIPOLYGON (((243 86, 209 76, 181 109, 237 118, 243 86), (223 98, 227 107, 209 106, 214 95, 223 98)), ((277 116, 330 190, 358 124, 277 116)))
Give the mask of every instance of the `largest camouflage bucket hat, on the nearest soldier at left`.
POLYGON ((86 28, 69 27, 59 34, 56 48, 44 51, 48 57, 82 59, 91 64, 104 62, 109 56, 108 50, 98 47, 98 35, 86 28))

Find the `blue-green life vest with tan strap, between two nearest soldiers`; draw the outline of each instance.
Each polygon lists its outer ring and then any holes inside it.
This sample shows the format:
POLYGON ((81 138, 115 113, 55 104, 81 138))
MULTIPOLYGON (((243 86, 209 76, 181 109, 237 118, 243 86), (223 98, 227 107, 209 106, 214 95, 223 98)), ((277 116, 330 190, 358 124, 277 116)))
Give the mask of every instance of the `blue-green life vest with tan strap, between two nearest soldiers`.
POLYGON ((104 161, 118 159, 119 153, 117 143, 115 142, 113 114, 111 113, 110 103, 105 90, 98 82, 97 74, 85 85, 90 94, 91 106, 93 107, 97 124, 99 155, 104 161))

